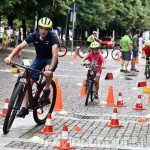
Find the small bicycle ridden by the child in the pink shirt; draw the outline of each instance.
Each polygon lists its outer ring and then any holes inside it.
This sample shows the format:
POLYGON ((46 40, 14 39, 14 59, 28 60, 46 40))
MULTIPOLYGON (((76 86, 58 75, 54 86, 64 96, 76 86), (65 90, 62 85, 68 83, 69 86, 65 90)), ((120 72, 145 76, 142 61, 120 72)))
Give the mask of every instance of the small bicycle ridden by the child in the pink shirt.
MULTIPOLYGON (((96 68, 100 68, 97 67, 96 65, 90 65, 90 64, 84 64, 84 66, 88 69, 88 73, 87 73, 87 80, 86 80, 86 100, 85 100, 85 106, 88 105, 88 101, 89 98, 91 99, 91 102, 93 102, 94 100, 94 95, 96 93, 95 91, 95 77, 96 77, 96 68)), ((101 68, 100 68, 101 69, 101 68)))

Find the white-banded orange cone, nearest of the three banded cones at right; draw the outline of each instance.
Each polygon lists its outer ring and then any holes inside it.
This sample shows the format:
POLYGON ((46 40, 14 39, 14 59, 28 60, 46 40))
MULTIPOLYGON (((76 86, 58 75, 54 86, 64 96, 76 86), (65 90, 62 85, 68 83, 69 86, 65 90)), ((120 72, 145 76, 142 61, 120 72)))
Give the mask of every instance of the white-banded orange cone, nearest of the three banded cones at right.
POLYGON ((117 108, 114 108, 111 121, 106 126, 112 127, 112 128, 123 127, 121 124, 119 124, 118 115, 117 115, 117 108))

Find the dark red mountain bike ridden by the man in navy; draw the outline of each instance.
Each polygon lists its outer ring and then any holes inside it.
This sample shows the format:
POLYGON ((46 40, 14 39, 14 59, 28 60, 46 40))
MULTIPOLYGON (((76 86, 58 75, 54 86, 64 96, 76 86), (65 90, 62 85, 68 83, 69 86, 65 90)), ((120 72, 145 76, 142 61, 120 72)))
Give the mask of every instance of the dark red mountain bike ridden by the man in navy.
POLYGON ((11 64, 12 67, 17 68, 17 66, 24 68, 25 71, 22 75, 19 75, 15 83, 10 102, 8 105, 8 111, 4 120, 3 132, 7 134, 14 122, 17 111, 20 110, 26 91, 28 90, 29 96, 29 109, 33 110, 34 121, 40 125, 44 124, 48 113, 52 113, 55 101, 56 101, 56 85, 52 80, 50 84, 50 95, 49 102, 39 102, 40 97, 43 94, 43 88, 46 85, 45 78, 43 76, 43 71, 38 71, 31 69, 27 66, 19 65, 16 63, 11 64), (38 81, 32 78, 30 71, 34 71, 40 75, 38 81), (30 79, 34 81, 33 86, 31 86, 30 79))

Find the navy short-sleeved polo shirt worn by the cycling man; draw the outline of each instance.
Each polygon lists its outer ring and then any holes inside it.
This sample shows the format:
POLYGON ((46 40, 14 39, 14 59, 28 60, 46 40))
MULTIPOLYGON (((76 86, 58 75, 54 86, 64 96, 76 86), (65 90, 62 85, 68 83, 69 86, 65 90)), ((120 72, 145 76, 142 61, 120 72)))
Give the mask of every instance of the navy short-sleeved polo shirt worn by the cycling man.
POLYGON ((44 41, 41 41, 40 34, 38 31, 33 32, 25 41, 29 43, 33 43, 36 50, 36 57, 38 59, 42 58, 52 58, 52 46, 54 44, 59 44, 59 41, 54 35, 54 33, 49 32, 47 38, 44 41))

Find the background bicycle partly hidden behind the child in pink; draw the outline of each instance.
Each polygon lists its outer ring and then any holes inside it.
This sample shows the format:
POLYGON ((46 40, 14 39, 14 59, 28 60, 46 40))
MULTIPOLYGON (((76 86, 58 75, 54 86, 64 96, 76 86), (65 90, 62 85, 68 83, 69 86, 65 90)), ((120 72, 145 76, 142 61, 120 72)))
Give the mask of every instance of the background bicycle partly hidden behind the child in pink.
MULTIPOLYGON (((91 52, 91 48, 90 47, 79 47, 77 50, 77 53, 79 55, 79 57, 84 58, 89 52, 91 52)), ((104 59, 106 59, 108 57, 108 50, 107 47, 106 48, 99 48, 99 52, 100 54, 103 55, 104 59)))

